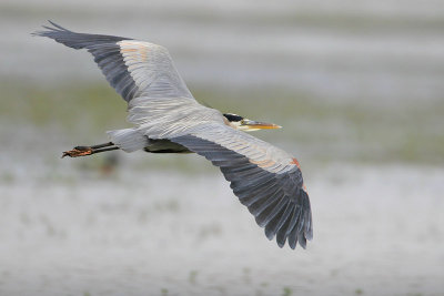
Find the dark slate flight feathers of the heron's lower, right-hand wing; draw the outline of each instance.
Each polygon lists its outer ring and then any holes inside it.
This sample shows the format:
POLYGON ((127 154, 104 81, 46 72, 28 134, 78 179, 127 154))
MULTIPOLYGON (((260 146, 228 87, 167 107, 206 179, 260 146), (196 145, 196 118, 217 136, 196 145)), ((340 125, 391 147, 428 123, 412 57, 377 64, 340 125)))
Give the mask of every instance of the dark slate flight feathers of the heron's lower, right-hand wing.
POLYGON ((303 188, 301 171, 294 166, 287 172, 269 172, 230 149, 186 134, 171 139, 219 166, 240 202, 265 228, 271 241, 276 237, 280 247, 303 248, 313 237, 312 213, 309 195, 303 188))

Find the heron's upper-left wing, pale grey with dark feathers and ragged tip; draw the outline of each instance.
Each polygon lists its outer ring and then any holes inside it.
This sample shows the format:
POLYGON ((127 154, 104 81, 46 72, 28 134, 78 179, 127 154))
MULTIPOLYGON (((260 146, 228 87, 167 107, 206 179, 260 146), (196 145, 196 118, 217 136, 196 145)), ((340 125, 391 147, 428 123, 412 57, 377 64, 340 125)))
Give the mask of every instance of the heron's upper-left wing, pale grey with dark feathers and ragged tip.
POLYGON ((111 86, 130 102, 137 96, 193 99, 163 47, 130 38, 75 33, 54 28, 36 35, 48 37, 73 49, 88 49, 111 86))

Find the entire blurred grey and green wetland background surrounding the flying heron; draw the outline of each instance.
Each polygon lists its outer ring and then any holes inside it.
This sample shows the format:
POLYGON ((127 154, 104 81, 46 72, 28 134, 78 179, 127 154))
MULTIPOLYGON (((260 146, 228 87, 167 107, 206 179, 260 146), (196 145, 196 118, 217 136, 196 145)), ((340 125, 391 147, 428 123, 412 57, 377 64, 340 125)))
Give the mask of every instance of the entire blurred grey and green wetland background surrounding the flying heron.
POLYGON ((444 10, 426 1, 0 2, 1 295, 442 295, 444 10), (130 126, 78 32, 167 47, 202 103, 284 129, 307 249, 196 155, 60 160, 130 126))

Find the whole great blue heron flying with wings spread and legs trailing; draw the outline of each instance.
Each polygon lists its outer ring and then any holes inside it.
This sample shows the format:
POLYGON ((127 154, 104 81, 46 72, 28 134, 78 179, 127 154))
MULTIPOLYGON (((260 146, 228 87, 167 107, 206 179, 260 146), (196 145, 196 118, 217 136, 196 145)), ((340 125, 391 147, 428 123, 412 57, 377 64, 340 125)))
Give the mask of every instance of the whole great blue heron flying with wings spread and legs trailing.
POLYGON ((313 236, 309 195, 300 164, 292 155, 245 132, 278 129, 199 104, 175 70, 163 47, 114 35, 77 33, 53 22, 48 37, 73 49, 87 49, 108 82, 128 102, 132 129, 108 132, 111 142, 77 146, 63 156, 85 156, 110 150, 152 153, 195 152, 219 166, 231 188, 265 227, 305 248, 313 236))

